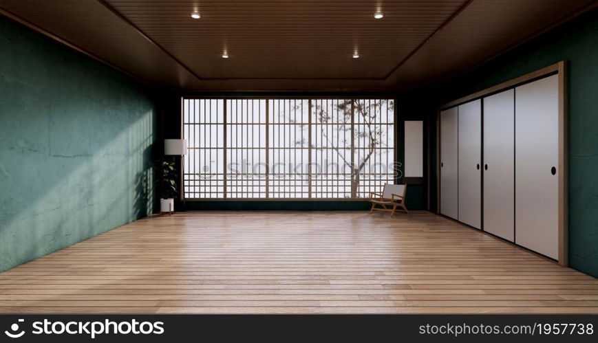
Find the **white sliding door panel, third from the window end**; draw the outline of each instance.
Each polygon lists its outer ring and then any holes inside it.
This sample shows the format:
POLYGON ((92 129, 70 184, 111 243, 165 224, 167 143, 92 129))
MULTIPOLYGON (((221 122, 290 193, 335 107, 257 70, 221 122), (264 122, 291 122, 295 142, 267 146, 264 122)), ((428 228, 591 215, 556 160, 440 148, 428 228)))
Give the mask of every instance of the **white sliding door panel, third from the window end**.
POLYGON ((515 91, 484 98, 484 231, 515 237, 515 91))

